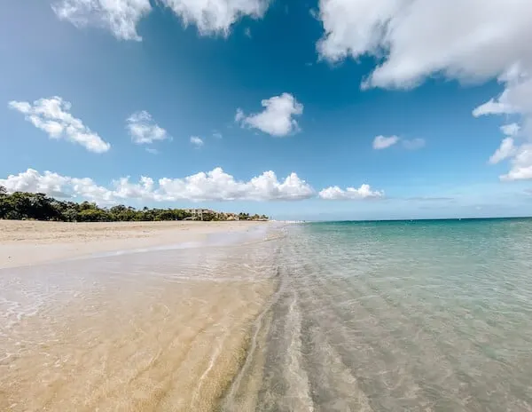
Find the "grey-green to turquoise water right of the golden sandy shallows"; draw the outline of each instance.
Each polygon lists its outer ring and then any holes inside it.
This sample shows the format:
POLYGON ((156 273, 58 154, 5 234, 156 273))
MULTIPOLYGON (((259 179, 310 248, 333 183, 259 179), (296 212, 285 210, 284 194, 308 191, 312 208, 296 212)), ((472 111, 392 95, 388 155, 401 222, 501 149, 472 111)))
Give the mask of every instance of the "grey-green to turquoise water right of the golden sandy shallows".
POLYGON ((303 224, 277 253, 259 410, 532 410, 531 219, 303 224))

